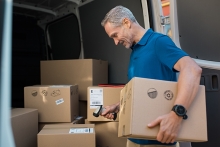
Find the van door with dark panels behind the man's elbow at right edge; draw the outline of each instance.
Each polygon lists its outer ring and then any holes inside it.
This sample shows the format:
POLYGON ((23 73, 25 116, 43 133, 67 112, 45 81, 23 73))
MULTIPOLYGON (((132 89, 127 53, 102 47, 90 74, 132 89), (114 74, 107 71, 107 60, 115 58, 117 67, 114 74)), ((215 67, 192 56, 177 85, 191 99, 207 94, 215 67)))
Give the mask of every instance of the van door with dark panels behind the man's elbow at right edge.
POLYGON ((220 144, 219 6, 218 0, 170 0, 172 39, 202 67, 200 84, 206 88, 208 141, 192 143, 193 147, 220 144))

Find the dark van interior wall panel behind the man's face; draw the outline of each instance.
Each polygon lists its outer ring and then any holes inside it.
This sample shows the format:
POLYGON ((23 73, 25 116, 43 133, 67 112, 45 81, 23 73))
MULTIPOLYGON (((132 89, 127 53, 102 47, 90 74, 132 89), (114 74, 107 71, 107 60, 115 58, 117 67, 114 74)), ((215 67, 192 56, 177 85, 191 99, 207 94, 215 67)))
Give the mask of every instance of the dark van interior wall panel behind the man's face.
POLYGON ((117 5, 129 8, 144 27, 141 0, 95 0, 79 7, 85 58, 109 62, 109 83, 127 83, 131 49, 116 46, 101 26, 105 14, 117 5))

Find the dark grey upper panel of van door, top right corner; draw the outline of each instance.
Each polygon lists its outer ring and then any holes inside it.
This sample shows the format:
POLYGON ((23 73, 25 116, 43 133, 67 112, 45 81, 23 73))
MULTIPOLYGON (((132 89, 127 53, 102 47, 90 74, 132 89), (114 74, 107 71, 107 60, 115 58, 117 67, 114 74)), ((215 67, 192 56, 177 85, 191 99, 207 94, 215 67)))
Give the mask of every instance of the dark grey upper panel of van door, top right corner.
POLYGON ((180 45, 191 57, 220 62, 219 6, 219 0, 177 1, 180 45))

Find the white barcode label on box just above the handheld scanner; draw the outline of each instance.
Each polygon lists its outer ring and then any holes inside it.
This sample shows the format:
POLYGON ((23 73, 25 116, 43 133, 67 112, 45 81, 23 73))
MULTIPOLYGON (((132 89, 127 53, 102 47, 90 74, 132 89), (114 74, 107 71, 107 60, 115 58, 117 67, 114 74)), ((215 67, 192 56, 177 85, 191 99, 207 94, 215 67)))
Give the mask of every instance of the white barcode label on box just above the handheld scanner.
POLYGON ((90 89, 90 109, 103 105, 103 89, 90 89))

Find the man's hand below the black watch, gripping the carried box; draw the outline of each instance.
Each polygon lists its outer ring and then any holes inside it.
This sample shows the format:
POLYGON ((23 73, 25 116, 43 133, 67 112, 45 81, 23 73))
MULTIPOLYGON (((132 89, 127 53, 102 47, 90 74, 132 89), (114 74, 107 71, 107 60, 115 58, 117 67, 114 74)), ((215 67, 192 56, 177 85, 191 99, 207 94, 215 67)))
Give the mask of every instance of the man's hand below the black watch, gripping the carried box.
POLYGON ((177 116, 175 112, 171 111, 166 115, 159 116, 147 126, 149 128, 153 128, 157 125, 160 125, 157 140, 162 143, 174 143, 176 141, 182 120, 182 117, 177 116))

